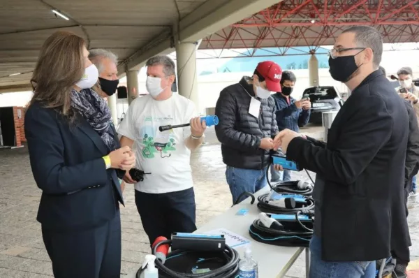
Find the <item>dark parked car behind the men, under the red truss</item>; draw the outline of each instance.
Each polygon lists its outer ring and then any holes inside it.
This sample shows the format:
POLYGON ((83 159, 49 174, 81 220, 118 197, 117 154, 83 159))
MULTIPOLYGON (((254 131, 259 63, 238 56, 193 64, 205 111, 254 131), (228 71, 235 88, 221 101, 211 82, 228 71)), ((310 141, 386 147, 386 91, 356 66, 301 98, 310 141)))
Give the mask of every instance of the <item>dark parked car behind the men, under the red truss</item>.
POLYGON ((323 112, 339 111, 344 104, 338 90, 333 86, 309 87, 304 90, 302 95, 308 95, 310 98, 310 122, 313 124, 322 124, 323 112))

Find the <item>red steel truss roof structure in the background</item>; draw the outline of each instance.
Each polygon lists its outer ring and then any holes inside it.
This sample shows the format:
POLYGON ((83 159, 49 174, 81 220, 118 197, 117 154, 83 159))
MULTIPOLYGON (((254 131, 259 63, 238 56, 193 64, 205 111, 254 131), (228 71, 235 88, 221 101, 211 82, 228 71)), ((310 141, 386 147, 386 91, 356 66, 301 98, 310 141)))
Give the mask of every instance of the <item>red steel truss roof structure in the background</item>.
MULTIPOLYGON (((203 39, 200 49, 333 45, 347 27, 372 25, 385 43, 419 41, 419 0, 284 0, 203 39)), ((284 54, 285 54, 284 52, 284 54)))

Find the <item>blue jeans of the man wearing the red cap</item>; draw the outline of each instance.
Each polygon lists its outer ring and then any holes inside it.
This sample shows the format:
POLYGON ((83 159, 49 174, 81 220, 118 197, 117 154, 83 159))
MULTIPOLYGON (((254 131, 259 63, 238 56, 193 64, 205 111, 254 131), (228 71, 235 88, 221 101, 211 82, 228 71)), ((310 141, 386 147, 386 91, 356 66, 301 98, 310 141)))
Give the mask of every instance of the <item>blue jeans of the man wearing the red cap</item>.
MULTIPOLYGON (((253 170, 227 166, 226 179, 235 203, 243 192, 255 193, 267 185, 266 168, 253 170)), ((242 196, 239 202, 246 198, 247 196, 242 196)))

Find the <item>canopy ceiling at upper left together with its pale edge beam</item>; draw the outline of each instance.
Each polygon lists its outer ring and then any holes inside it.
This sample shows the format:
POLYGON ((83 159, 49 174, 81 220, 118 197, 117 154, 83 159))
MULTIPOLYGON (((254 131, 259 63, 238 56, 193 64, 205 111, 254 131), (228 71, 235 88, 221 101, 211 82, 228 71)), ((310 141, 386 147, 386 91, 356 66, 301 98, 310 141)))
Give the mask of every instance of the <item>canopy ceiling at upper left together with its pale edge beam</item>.
POLYGON ((0 0, 0 92, 30 89, 38 51, 58 29, 82 36, 89 49, 118 54, 124 75, 176 43, 196 42, 279 1, 0 0))

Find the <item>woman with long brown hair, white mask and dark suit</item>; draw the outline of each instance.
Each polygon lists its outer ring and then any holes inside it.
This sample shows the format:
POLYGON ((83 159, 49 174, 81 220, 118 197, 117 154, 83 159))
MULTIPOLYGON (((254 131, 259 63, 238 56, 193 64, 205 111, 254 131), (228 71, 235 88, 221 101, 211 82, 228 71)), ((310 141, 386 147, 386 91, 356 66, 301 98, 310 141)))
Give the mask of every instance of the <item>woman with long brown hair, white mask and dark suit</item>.
POLYGON ((121 148, 110 111, 90 88, 98 70, 84 41, 58 31, 45 41, 25 115, 38 210, 54 277, 116 278, 124 204, 118 177, 135 163, 121 148))

